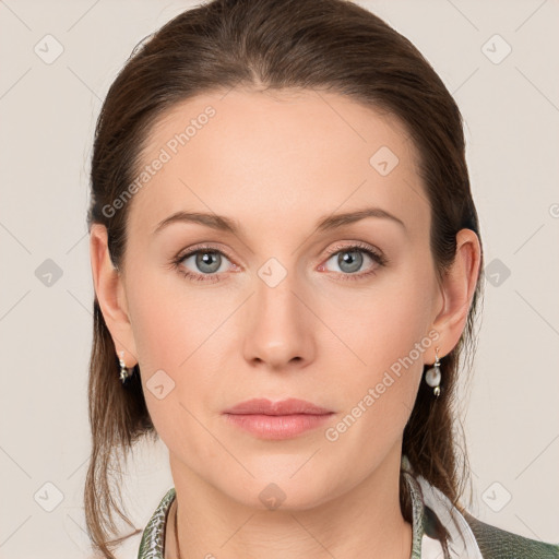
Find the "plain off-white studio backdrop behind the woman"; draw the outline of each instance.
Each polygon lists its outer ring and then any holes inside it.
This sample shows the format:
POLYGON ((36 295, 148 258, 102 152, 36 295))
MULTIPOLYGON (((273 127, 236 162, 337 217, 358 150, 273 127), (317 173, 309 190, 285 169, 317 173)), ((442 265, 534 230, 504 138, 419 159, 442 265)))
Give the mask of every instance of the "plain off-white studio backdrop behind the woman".
MULTIPOLYGON (((559 3, 358 2, 408 37, 465 119, 486 258, 463 423, 479 519, 559 543, 559 3)), ((0 2, 0 558, 85 558, 95 119, 133 47, 187 1, 0 2)), ((173 486, 140 445, 123 495, 143 528, 173 486)), ((119 557, 133 559, 135 537, 119 557)))

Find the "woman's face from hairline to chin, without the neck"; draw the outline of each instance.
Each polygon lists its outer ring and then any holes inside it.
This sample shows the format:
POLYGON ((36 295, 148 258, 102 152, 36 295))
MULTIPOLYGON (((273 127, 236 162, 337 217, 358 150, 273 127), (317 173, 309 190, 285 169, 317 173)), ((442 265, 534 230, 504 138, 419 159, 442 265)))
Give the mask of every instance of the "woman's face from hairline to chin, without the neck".
POLYGON ((143 165, 119 342, 176 483, 307 508, 392 468, 424 365, 456 341, 438 338, 443 296, 406 130, 332 93, 233 90, 167 112, 143 165), (205 217, 162 226, 178 212, 205 217), (263 432, 265 418, 224 413, 251 399, 330 415, 263 432))

